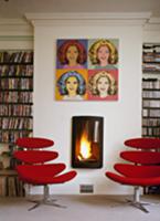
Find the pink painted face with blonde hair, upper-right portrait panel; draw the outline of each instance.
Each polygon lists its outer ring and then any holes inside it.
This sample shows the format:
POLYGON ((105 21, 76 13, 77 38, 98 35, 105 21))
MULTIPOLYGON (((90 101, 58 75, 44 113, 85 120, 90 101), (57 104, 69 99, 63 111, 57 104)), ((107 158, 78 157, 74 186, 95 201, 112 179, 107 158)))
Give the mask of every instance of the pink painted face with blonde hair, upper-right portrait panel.
POLYGON ((108 62, 109 59, 109 49, 106 45, 103 45, 97 51, 97 59, 99 60, 99 63, 103 64, 105 62, 108 62))

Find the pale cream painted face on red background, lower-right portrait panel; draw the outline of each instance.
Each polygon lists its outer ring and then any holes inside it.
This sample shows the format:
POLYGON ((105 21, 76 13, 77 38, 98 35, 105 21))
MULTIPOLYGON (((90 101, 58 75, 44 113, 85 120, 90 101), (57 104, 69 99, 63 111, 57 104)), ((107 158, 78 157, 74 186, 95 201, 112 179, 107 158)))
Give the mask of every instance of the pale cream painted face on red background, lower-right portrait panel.
POLYGON ((108 88, 109 88, 109 81, 106 76, 102 76, 99 77, 99 80, 97 81, 97 90, 100 94, 107 94, 108 93, 108 88))

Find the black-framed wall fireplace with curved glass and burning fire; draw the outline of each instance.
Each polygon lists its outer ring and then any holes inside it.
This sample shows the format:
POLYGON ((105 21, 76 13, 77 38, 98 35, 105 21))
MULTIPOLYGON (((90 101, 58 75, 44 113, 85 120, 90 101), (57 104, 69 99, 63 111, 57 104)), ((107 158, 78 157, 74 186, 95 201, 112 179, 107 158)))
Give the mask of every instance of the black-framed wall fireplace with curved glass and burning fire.
POLYGON ((99 116, 74 116, 72 118, 72 167, 103 167, 103 127, 99 116))

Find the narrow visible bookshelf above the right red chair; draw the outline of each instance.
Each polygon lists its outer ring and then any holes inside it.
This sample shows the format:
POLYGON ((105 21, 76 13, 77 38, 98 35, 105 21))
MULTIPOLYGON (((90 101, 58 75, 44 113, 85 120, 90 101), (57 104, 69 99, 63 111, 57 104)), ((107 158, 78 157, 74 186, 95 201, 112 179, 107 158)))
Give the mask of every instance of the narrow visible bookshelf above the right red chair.
POLYGON ((142 48, 142 136, 160 137, 160 43, 142 48))

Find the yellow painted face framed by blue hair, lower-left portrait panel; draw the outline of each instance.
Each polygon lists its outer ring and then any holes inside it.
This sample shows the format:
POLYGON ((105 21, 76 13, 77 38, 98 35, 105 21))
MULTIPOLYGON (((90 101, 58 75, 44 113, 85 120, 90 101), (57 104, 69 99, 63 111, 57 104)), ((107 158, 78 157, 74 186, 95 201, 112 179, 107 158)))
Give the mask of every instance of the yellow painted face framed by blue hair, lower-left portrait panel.
POLYGON ((76 94, 77 87, 78 87, 77 78, 75 76, 70 76, 66 80, 66 90, 67 90, 68 94, 76 94))

